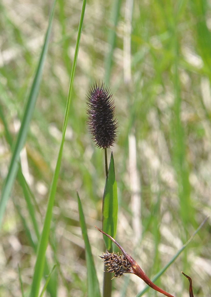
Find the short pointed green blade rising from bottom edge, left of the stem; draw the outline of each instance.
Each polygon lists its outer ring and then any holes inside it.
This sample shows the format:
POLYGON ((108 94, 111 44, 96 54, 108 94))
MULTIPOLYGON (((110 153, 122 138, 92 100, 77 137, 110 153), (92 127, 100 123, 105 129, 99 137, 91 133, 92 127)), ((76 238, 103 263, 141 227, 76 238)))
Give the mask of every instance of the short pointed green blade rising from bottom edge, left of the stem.
MULTIPOLYGON (((78 194, 77 194, 78 195, 78 194)), ((81 200, 78 196, 78 212, 80 217, 80 225, 82 235, 85 243, 86 251, 86 267, 87 267, 87 296, 88 297, 100 297, 100 288, 95 270, 95 263, 92 257, 92 250, 87 236, 86 223, 84 219, 84 213, 81 205, 81 200)))

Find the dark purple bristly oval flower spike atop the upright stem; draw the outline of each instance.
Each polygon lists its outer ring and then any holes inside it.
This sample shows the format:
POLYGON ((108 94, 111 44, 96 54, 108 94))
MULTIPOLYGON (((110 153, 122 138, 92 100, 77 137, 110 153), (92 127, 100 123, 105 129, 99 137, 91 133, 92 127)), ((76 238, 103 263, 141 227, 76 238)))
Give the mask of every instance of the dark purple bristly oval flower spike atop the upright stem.
POLYGON ((109 148, 116 142, 118 123, 114 114, 114 100, 108 86, 93 83, 86 94, 87 124, 95 146, 109 148))

